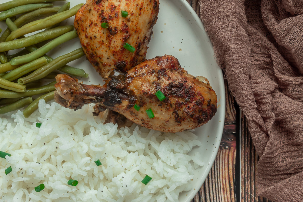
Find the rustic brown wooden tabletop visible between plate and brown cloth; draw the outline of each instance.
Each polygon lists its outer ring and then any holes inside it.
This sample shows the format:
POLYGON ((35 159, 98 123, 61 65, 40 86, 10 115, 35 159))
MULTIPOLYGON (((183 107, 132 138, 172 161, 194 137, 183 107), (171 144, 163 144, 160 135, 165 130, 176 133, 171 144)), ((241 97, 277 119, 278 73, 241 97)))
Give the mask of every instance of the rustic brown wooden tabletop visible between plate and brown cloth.
MULTIPOLYGON (((199 0, 187 2, 199 15, 199 0)), ((227 80, 225 96, 225 126, 221 145, 208 177, 192 202, 270 201, 257 195, 258 155, 245 116, 239 110, 227 80)))

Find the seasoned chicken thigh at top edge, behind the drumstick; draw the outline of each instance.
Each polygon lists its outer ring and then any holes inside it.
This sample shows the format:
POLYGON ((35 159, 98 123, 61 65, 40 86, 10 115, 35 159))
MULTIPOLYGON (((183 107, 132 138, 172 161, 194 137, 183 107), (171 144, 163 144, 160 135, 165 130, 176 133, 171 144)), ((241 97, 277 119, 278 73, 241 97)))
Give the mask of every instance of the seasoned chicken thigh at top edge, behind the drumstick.
POLYGON ((158 12, 159 0, 87 0, 79 9, 74 26, 87 59, 102 78, 145 60, 158 12), (128 17, 122 18, 121 11, 128 17), (101 27, 103 22, 108 28, 101 27), (125 42, 134 53, 123 47, 125 42))

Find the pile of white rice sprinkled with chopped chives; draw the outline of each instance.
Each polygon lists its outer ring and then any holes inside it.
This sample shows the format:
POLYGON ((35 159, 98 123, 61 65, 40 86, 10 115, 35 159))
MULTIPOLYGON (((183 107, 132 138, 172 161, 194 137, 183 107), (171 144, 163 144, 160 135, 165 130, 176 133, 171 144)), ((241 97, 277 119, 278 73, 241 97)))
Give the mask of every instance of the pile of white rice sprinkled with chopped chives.
POLYGON ((102 119, 89 105, 73 111, 44 100, 30 118, 2 115, 0 151, 11 157, 0 158, 0 201, 178 201, 191 189, 194 167, 203 166, 198 154, 188 155, 201 145, 193 133, 117 129, 102 119), (152 177, 147 185, 145 175, 152 177), (36 192, 41 183, 45 189, 36 192))

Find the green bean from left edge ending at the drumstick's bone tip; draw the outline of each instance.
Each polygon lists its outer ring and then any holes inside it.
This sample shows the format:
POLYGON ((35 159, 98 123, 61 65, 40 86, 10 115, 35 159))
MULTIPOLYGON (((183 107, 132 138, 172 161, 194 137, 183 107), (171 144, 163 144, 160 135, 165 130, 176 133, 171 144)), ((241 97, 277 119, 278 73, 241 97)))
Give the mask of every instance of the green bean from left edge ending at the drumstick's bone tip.
POLYGON ((55 90, 55 83, 56 83, 56 81, 54 81, 50 84, 41 86, 39 88, 30 88, 30 89, 27 89, 24 93, 0 90, 0 98, 22 98, 22 97, 33 96, 33 95, 38 95, 38 94, 42 94, 42 93, 48 93, 50 91, 55 90))

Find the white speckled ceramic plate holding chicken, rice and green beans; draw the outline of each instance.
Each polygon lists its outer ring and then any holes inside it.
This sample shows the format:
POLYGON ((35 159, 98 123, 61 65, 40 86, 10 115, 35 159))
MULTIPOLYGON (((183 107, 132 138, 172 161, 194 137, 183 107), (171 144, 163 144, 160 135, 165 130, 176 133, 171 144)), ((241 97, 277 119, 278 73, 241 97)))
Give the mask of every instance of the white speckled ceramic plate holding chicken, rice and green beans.
MULTIPOLYGON (((1 3, 8 1, 2 0, 1 3)), ((73 7, 79 3, 85 3, 85 0, 70 2, 73 7)), ((55 2, 55 5, 63 3, 55 2)), ((3 23, 1 22, 0 25, 2 28, 5 27, 3 23)), ((68 19, 65 24, 72 25, 73 19, 68 19)), ((225 88, 222 71, 216 64, 213 46, 201 20, 185 0, 160 0, 158 21, 153 28, 153 36, 148 46, 147 59, 165 54, 175 56, 188 73, 194 76, 205 76, 218 97, 218 111, 215 116, 194 132, 198 135, 202 146, 195 147, 191 153, 200 152, 205 166, 195 170, 194 179, 190 182, 193 188, 188 192, 182 192, 179 196, 179 201, 191 201, 211 169, 222 137, 225 118, 225 88)), ((56 58, 80 47, 77 38, 53 49, 48 55, 56 58)), ((82 80, 84 83, 102 83, 101 77, 84 57, 69 65, 83 68, 89 73, 89 77, 82 80)))

